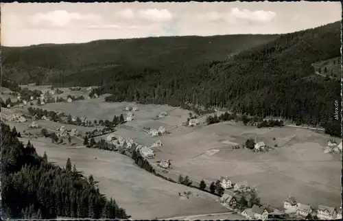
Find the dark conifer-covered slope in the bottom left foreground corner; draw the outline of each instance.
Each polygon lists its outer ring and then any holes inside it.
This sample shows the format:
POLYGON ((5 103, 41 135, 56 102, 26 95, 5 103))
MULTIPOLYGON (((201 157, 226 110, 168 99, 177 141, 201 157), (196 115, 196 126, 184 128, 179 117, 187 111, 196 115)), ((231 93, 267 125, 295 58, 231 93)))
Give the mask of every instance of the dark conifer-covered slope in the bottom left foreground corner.
POLYGON ((128 218, 114 199, 99 192, 93 176, 85 178, 68 159, 65 168, 24 147, 13 128, 1 122, 1 218, 128 218))

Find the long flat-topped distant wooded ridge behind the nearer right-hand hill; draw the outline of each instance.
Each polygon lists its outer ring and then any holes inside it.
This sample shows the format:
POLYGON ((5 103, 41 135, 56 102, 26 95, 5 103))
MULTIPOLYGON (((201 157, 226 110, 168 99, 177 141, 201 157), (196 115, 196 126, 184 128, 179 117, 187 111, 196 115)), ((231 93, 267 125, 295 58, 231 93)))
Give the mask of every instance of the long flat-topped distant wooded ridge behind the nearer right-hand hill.
MULTIPOLYGON (((165 69, 225 60, 231 54, 274 40, 278 35, 152 37, 96 40, 67 45, 2 47, 3 74, 20 84, 48 82, 53 76, 116 73, 115 67, 165 69), (25 74, 23 74, 25 73, 25 74)), ((119 71, 119 70, 118 70, 119 71)))

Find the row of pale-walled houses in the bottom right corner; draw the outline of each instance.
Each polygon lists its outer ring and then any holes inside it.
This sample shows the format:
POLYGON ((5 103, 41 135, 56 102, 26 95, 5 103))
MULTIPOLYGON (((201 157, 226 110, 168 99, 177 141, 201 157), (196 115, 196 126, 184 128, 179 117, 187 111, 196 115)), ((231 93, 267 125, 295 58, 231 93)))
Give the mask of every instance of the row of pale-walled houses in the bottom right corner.
POLYGON ((285 202, 283 202, 283 208, 285 213, 294 214, 300 218, 306 218, 310 214, 312 217, 317 216, 320 220, 342 219, 341 211, 334 207, 318 205, 318 209, 314 209, 311 205, 296 202, 293 196, 287 197, 285 202))

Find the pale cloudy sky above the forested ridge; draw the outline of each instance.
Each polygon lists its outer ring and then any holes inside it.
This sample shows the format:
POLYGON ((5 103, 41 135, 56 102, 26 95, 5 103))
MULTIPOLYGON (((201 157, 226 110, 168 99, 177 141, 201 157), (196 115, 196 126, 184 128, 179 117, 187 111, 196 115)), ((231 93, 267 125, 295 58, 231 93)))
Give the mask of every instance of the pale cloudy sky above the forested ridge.
POLYGON ((283 34, 342 19, 340 2, 1 3, 1 45, 283 34))

